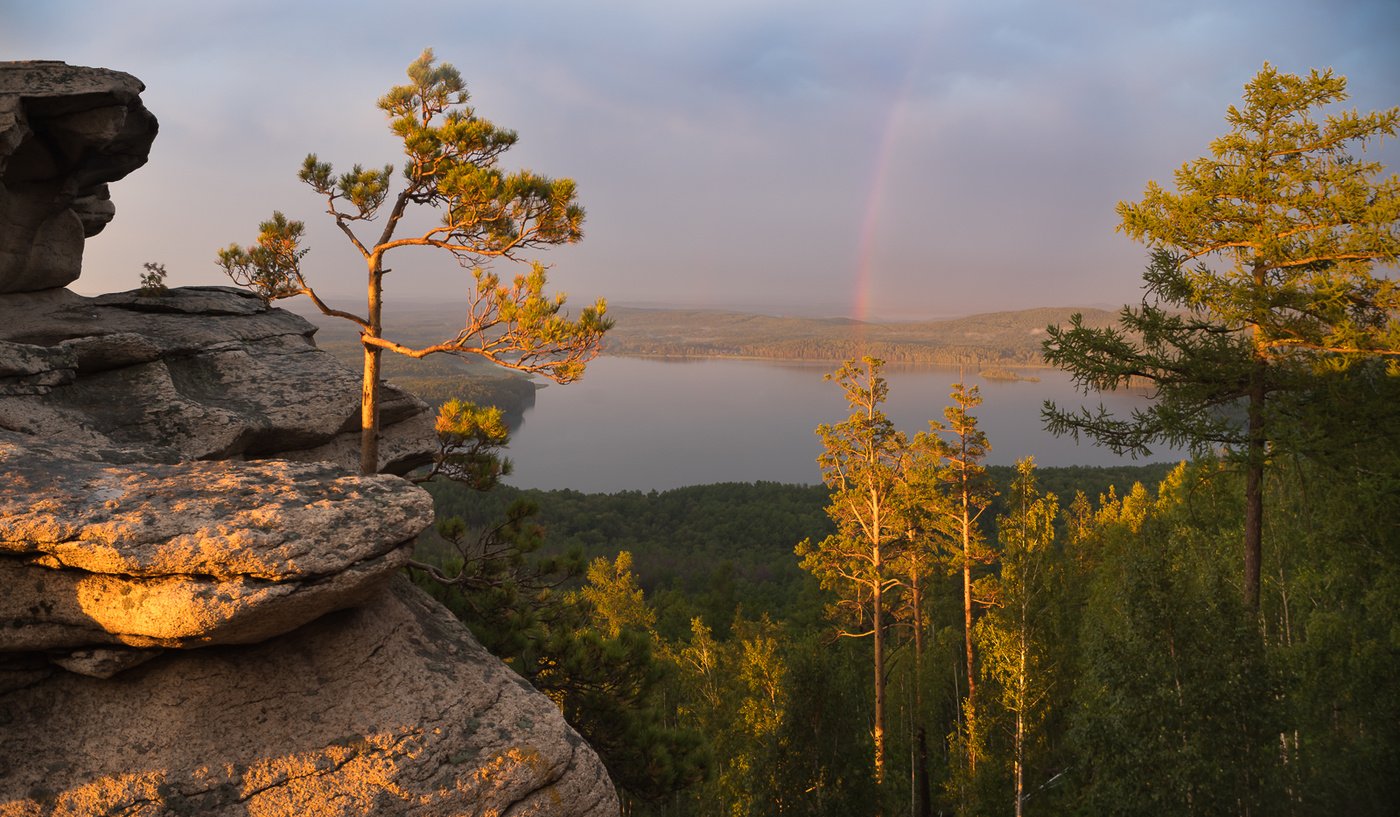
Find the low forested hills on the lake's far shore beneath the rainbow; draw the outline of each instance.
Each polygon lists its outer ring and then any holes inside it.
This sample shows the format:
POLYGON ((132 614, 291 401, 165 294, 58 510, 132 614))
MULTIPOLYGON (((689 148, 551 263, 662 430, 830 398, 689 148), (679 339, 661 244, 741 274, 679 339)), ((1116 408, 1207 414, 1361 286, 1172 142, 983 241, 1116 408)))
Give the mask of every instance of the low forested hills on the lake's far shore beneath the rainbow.
POLYGON ((892 364, 1042 367, 1046 326, 1075 312, 1088 326, 1116 313, 1070 306, 988 312, 948 320, 868 323, 844 318, 776 318, 711 309, 613 308, 606 354, 843 361, 865 354, 892 364))

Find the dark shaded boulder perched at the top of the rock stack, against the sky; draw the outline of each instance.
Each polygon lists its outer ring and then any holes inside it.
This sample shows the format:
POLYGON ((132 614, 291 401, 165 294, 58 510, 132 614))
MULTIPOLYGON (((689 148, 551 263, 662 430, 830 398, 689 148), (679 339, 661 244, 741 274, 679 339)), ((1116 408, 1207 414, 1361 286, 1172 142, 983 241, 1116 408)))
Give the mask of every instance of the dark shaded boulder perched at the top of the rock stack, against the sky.
POLYGON ((130 74, 0 63, 0 292, 76 281, 112 220, 108 182, 146 164, 155 118, 130 74))

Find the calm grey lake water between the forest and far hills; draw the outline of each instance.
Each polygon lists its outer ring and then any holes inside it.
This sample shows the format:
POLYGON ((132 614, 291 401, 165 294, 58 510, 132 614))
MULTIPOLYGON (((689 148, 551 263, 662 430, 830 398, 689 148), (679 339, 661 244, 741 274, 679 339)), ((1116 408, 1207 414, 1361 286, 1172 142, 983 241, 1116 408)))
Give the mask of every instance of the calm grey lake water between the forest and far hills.
MULTIPOLYGON (((841 389, 822 379, 832 364, 736 360, 638 360, 602 357, 567 386, 549 385, 511 438, 507 455, 526 488, 589 492, 666 490, 704 483, 819 483, 820 422, 848 414, 841 389)), ((1040 382, 986 381, 973 413, 991 442, 987 462, 1012 464, 1033 455, 1040 466, 1130 463, 1106 448, 1047 434, 1040 406, 1098 406, 1057 369, 1023 369, 1040 382)), ((888 367, 885 413, 913 435, 942 420, 956 368, 888 367)), ((1109 393, 1102 402, 1126 414, 1145 402, 1137 393, 1109 393)), ((1137 462, 1177 460, 1180 452, 1154 449, 1137 462)))

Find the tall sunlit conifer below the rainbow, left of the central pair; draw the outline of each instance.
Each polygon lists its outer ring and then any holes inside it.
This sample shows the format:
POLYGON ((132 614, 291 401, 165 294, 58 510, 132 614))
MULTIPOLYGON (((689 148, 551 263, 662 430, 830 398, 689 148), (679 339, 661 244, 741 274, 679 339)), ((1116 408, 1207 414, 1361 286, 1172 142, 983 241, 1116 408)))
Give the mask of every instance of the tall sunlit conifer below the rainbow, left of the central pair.
POLYGON ((820 543, 808 539, 797 546, 802 568, 839 593, 837 611, 847 623, 840 635, 874 642, 876 782, 885 775, 886 593, 899 585, 896 557, 906 534, 899 492, 907 439, 881 410, 889 396, 879 374, 883 365, 865 357, 826 376, 841 386, 851 407, 844 422, 816 429, 825 449, 818 464, 832 490, 826 512, 837 530, 820 543))

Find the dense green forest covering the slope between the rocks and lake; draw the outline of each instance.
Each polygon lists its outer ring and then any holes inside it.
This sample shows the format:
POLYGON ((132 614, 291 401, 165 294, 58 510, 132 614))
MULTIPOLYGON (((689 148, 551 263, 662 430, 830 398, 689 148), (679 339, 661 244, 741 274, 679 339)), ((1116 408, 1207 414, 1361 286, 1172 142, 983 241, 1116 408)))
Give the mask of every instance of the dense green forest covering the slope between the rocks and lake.
MULTIPOLYGON (((1400 428, 1393 378, 1326 399, 1400 428)), ((872 644, 837 637, 858 595, 794 553, 840 529, 826 485, 435 481, 445 536, 419 558, 465 581, 417 576, 564 706, 631 814, 1387 814, 1400 441, 1337 434, 1270 470, 1257 614, 1231 463, 986 469, 977 725, 956 539, 935 534, 917 607, 909 553, 888 593, 883 781, 872 644)))

